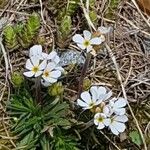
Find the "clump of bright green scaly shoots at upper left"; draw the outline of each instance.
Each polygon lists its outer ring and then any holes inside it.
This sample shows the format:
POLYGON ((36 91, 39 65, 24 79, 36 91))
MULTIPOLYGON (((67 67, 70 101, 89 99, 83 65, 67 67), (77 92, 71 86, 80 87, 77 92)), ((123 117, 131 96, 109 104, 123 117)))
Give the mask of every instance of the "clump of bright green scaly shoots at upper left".
POLYGON ((16 26, 7 26, 4 29, 4 41, 9 50, 15 50, 22 46, 28 48, 35 37, 37 36, 40 28, 39 15, 33 13, 25 24, 17 24, 16 26))

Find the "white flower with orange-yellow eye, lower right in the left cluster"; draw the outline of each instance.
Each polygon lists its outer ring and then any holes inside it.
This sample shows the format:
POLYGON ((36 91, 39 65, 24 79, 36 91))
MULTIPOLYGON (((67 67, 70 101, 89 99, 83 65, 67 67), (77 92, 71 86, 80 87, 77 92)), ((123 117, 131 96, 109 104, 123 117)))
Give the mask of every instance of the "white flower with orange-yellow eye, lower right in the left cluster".
POLYGON ((54 62, 49 62, 45 68, 42 78, 49 83, 57 82, 57 79, 61 76, 61 71, 56 69, 54 62))

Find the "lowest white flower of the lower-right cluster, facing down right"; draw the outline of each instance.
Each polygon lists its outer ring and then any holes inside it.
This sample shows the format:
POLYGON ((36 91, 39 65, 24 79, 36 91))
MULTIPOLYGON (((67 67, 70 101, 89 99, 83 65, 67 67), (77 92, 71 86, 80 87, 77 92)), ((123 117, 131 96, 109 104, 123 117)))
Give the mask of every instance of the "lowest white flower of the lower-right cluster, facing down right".
POLYGON ((119 133, 122 133, 125 131, 126 129, 125 122, 127 121, 128 121, 128 118, 126 115, 114 116, 111 119, 109 128, 113 134, 118 135, 119 133))

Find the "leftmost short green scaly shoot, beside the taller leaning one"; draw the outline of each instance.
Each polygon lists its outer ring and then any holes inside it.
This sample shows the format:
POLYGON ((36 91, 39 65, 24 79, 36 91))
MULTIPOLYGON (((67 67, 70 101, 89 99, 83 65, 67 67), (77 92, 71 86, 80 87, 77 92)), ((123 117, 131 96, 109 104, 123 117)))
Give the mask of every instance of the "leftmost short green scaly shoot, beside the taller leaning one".
POLYGON ((4 29, 4 40, 5 45, 8 49, 14 50, 19 47, 19 43, 17 41, 17 34, 12 26, 7 26, 4 29))

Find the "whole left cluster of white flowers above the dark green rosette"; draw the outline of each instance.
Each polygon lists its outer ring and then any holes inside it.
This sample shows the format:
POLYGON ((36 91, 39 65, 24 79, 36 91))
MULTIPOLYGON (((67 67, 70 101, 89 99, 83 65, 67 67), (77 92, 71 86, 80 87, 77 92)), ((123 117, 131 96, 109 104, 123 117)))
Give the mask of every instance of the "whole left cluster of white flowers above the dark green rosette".
POLYGON ((42 52, 41 45, 34 45, 30 48, 29 59, 26 62, 28 71, 23 74, 26 77, 41 76, 41 83, 50 86, 57 82, 64 69, 59 65, 60 58, 55 51, 50 54, 42 52))

